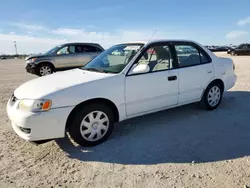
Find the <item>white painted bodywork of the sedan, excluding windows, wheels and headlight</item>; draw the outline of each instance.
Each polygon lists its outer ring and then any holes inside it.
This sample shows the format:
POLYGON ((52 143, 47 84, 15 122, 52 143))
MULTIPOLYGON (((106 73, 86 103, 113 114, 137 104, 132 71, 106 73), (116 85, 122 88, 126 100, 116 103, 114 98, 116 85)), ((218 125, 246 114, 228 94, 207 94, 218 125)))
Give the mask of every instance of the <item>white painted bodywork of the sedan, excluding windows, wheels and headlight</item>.
MULTIPOLYGON (((186 40, 185 40, 186 41, 186 40)), ((144 47, 157 42, 151 41, 144 47)), ((95 99, 112 102, 118 111, 118 121, 181 106, 201 100, 213 80, 221 80, 224 91, 235 85, 233 61, 220 58, 200 44, 212 59, 211 63, 171 69, 154 74, 129 76, 138 54, 119 74, 73 69, 30 80, 14 91, 7 113, 15 132, 25 140, 38 141, 65 136, 66 122, 80 103, 95 99), (177 80, 168 81, 168 77, 177 80), (50 99, 52 107, 46 112, 26 112, 18 108, 22 99, 50 99), (25 133, 22 128, 31 129, 25 133)))

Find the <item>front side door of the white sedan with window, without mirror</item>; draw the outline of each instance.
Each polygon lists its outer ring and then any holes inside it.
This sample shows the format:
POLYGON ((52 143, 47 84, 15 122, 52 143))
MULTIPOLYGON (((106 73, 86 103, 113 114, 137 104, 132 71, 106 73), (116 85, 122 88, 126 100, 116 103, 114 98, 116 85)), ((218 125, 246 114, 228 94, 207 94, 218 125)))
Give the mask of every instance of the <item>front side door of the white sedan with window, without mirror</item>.
POLYGON ((178 102, 178 69, 174 69, 171 46, 160 43, 146 48, 132 68, 149 66, 149 72, 126 76, 125 100, 129 117, 158 111, 178 102))

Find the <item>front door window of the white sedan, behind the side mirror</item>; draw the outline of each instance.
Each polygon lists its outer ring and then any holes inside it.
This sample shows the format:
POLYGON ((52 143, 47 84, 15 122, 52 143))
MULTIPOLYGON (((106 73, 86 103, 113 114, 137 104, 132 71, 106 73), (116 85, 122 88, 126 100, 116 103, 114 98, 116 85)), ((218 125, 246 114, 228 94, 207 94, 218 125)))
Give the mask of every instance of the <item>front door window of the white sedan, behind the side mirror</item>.
POLYGON ((140 58, 138 64, 147 64, 150 72, 173 68, 173 59, 169 46, 159 45, 149 48, 140 58))

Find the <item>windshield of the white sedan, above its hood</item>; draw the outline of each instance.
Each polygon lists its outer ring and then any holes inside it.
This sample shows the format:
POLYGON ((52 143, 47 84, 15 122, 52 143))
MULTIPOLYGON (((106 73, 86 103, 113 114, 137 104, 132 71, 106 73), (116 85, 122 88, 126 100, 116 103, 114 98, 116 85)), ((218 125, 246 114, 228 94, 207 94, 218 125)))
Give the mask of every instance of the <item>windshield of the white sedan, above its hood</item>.
POLYGON ((101 53, 82 67, 82 69, 97 72, 119 73, 126 67, 142 46, 143 44, 115 45, 101 53))

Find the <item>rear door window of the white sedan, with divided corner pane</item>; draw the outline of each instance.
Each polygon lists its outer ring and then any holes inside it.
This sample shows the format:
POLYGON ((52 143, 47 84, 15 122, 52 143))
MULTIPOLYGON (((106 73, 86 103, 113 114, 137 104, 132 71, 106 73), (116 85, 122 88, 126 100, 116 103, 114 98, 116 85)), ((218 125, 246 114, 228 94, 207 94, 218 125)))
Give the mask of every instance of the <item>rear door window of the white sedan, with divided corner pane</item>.
POLYGON ((179 67, 188 67, 193 65, 200 65, 209 63, 206 54, 192 45, 174 45, 179 67))

